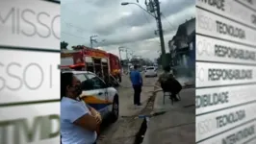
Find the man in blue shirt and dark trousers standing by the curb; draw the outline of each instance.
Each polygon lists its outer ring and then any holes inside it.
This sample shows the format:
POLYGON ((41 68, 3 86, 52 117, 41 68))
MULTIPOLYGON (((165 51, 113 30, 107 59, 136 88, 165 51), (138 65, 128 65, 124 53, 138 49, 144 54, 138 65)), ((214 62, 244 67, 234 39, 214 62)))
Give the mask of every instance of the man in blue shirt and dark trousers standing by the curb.
POLYGON ((143 83, 138 65, 134 65, 134 70, 130 73, 130 79, 134 88, 134 105, 141 106, 141 87, 143 83))

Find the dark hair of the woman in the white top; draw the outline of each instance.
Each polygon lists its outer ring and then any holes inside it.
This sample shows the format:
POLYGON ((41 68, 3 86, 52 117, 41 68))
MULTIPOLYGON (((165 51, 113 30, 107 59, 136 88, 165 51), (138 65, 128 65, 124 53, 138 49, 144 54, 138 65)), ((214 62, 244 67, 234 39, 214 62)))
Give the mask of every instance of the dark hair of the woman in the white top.
POLYGON ((66 92, 66 86, 71 85, 73 81, 73 73, 61 73, 61 99, 66 92))

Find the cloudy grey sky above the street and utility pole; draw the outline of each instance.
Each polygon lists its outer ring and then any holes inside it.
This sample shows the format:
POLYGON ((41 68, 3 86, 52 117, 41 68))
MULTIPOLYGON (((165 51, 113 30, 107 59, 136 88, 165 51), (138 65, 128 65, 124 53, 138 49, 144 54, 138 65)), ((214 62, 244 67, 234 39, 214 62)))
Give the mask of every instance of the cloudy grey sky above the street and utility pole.
MULTIPOLYGON (((93 46, 118 56, 124 46, 136 55, 154 60, 159 56, 159 36, 155 19, 136 5, 121 6, 121 2, 137 0, 62 0, 62 41, 71 46, 90 46, 90 36, 96 35, 93 46), (105 40, 104 40, 105 39, 105 40)), ((160 0, 166 52, 167 41, 180 24, 195 16, 194 0, 160 0), (166 18, 165 18, 166 17, 166 18)), ((140 0, 145 8, 144 0, 140 0)), ((125 58, 125 53, 121 54, 125 58)))

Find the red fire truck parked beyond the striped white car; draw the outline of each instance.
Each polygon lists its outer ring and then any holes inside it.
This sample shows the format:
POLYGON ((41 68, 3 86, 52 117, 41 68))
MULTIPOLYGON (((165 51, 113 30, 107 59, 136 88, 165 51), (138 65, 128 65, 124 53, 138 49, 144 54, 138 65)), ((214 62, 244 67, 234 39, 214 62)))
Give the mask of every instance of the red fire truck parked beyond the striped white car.
POLYGON ((62 69, 86 70, 95 74, 108 74, 121 82, 121 65, 117 56, 87 47, 62 53, 62 69))

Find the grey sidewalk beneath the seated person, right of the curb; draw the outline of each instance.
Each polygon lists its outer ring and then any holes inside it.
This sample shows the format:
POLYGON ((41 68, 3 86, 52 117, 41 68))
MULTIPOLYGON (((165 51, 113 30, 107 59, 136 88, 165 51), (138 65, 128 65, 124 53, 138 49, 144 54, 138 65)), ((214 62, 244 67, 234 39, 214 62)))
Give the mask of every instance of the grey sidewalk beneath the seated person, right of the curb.
POLYGON ((193 144, 195 141, 195 89, 183 89, 181 101, 171 105, 163 92, 158 92, 154 102, 154 112, 166 111, 149 119, 142 144, 193 144))

